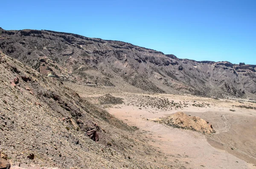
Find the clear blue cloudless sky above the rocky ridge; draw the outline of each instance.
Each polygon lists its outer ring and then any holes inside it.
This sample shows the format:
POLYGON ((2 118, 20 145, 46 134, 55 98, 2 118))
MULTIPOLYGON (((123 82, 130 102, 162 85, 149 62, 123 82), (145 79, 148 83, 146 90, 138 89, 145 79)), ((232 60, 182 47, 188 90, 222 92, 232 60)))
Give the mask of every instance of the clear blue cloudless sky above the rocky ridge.
POLYGON ((256 0, 2 0, 0 27, 120 40, 193 60, 256 64, 256 0))

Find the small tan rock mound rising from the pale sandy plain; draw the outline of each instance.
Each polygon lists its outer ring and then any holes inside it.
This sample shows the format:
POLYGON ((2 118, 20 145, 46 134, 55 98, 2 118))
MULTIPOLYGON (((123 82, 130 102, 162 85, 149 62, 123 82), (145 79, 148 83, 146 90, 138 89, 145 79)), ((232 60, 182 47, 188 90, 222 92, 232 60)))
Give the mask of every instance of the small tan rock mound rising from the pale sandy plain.
POLYGON ((190 129, 192 131, 197 131, 201 133, 215 133, 212 125, 209 124, 209 122, 201 119, 200 117, 188 116, 183 112, 177 112, 174 115, 165 118, 151 119, 151 121, 163 123, 175 128, 190 129))

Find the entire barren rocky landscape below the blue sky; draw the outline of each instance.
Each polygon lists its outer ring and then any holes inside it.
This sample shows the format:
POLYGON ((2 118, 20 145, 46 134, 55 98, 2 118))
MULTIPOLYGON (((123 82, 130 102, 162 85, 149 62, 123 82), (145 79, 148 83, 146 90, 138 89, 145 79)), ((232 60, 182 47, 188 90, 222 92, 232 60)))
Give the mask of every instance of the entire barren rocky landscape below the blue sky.
POLYGON ((0 77, 12 167, 256 169, 256 65, 0 28, 0 77))

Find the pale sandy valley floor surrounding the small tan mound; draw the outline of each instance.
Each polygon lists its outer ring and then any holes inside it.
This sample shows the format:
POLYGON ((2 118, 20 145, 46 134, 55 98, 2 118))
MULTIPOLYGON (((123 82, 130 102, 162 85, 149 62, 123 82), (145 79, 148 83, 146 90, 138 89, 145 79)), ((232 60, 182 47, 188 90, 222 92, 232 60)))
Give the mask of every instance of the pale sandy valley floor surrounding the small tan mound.
POLYGON ((256 107, 252 101, 215 100, 188 95, 149 95, 87 86, 80 86, 76 90, 82 97, 111 93, 123 98, 124 103, 121 105, 101 106, 125 123, 137 126, 145 141, 156 147, 159 154, 164 154, 175 163, 186 164, 186 168, 256 169, 256 109, 237 107, 256 107), (164 99, 169 102, 166 104, 164 99), (208 135, 147 120, 168 117, 179 111, 208 121, 216 133, 208 135))

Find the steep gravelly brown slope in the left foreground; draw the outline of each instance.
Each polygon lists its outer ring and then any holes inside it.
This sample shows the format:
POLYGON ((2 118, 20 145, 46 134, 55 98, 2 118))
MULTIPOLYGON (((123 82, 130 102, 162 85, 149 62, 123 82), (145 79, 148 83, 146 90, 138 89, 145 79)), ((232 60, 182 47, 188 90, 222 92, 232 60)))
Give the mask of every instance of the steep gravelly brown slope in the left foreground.
POLYGON ((91 105, 56 78, 2 52, 0 77, 0 152, 12 165, 68 169, 170 165, 164 158, 154 160, 156 149, 137 129, 91 105))

